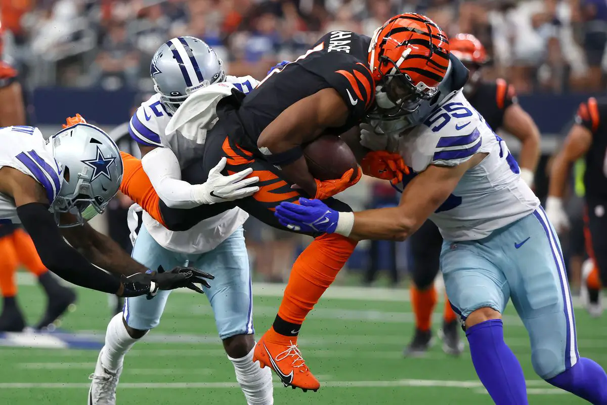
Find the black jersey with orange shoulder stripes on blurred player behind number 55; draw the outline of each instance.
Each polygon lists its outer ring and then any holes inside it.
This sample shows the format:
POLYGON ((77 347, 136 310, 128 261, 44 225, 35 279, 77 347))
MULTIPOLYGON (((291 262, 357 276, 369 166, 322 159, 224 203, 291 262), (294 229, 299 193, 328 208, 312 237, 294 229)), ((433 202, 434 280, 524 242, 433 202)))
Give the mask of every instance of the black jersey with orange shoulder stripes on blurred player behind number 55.
POLYGON ((507 107, 517 103, 514 87, 503 79, 481 82, 475 93, 466 95, 466 98, 476 111, 483 115, 493 131, 497 131, 504 123, 507 107))

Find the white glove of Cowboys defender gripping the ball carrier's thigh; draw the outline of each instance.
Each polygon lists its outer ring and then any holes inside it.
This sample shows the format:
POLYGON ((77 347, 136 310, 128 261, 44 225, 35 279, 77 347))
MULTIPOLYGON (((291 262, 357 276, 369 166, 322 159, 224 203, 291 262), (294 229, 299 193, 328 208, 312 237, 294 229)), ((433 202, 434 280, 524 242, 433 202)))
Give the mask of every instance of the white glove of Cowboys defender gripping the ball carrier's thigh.
POLYGON ((259 182, 259 177, 245 179, 253 172, 252 168, 231 175, 223 175, 221 171, 225 168, 226 161, 227 159, 222 157, 217 166, 209 171, 206 183, 196 185, 194 199, 198 204, 213 204, 242 199, 259 191, 258 186, 249 187, 259 182))

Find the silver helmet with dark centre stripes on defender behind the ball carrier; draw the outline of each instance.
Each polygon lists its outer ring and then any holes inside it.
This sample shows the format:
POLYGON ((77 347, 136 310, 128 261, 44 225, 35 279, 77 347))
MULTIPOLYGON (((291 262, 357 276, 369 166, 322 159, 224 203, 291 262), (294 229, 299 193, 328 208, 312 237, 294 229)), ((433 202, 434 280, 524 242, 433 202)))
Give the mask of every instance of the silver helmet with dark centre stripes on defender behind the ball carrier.
POLYGON ((178 36, 162 44, 150 64, 154 90, 174 113, 193 92, 225 81, 223 62, 202 39, 178 36))

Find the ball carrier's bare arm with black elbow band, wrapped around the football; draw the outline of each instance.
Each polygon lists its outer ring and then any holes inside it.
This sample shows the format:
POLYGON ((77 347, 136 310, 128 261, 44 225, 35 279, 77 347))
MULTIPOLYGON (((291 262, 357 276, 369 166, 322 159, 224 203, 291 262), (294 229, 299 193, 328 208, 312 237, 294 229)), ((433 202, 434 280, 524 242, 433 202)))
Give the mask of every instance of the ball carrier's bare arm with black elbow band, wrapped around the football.
POLYGON ((316 196, 317 183, 308 171, 302 145, 313 141, 324 129, 344 125, 348 114, 337 90, 319 90, 289 106, 266 126, 257 147, 270 163, 282 169, 286 180, 316 196))

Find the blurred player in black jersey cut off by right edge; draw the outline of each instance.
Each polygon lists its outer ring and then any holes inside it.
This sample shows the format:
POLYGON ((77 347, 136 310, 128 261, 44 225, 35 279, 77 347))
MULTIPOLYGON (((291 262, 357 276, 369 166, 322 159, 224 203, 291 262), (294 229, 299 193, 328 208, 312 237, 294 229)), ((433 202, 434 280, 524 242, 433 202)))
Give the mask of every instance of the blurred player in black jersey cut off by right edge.
POLYGON ((591 97, 575 114, 561 150, 554 158, 550 173, 546 214, 556 228, 563 232, 569 220, 563 208, 563 194, 573 163, 585 157, 584 173, 586 253, 590 257, 582 267, 582 295, 592 316, 600 316, 603 307, 600 289, 607 285, 607 99, 591 97))

